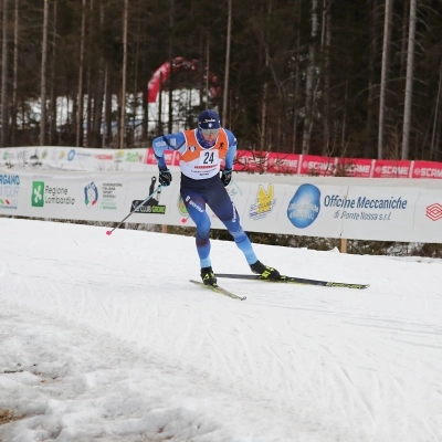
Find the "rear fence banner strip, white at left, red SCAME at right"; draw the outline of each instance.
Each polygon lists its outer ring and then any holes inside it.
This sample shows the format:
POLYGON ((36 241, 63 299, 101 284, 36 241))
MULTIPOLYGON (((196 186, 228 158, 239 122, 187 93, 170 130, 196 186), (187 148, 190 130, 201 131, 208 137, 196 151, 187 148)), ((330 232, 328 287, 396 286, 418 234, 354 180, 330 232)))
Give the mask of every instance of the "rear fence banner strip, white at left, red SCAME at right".
MULTIPOLYGON (((165 152, 169 168, 178 168, 180 156, 165 152)), ((152 148, 97 149, 42 146, 0 148, 0 167, 27 170, 150 171, 157 170, 152 148)), ((442 162, 320 157, 238 150, 235 171, 298 176, 355 178, 441 179, 442 162)))

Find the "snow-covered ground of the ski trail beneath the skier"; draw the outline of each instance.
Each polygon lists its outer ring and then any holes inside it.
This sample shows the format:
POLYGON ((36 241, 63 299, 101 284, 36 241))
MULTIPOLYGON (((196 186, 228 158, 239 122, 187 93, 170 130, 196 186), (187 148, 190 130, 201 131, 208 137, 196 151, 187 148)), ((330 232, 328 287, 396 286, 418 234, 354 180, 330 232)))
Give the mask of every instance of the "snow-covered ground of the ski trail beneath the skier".
MULTIPOLYGON (((0 219, 2 442, 440 442, 442 262, 255 245, 366 291, 199 278, 193 239, 0 219)), ((250 273, 232 242, 218 272, 250 273)))

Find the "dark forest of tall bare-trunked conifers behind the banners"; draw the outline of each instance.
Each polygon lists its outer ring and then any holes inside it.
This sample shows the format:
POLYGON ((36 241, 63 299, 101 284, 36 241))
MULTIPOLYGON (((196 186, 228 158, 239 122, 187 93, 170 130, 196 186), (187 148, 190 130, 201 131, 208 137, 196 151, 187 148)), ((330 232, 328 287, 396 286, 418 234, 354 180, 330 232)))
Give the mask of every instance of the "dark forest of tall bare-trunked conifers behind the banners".
POLYGON ((0 1, 2 147, 148 147, 214 107, 240 149, 442 160, 442 0, 0 1))

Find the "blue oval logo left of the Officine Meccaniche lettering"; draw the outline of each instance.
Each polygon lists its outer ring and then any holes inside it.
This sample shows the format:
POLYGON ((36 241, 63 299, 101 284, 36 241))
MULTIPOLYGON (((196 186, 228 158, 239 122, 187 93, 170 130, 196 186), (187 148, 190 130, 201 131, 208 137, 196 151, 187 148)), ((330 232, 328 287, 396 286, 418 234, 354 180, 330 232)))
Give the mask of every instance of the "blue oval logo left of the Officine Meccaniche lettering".
POLYGON ((311 225, 319 214, 320 191, 316 186, 302 185, 287 208, 287 218, 298 229, 311 225))

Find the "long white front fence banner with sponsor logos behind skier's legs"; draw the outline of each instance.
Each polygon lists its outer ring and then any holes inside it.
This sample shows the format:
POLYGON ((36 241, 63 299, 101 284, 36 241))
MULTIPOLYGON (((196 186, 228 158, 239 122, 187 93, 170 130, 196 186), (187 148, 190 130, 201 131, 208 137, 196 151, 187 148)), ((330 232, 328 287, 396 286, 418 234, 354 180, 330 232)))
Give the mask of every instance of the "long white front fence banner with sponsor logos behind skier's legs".
MULTIPOLYGON (((119 222, 157 187, 157 170, 0 169, 0 214, 119 222)), ((194 225, 180 173, 127 222, 194 225)), ((245 231, 442 243, 442 181, 234 173, 228 187, 245 231)), ((223 224, 210 209, 212 227, 223 224)))

